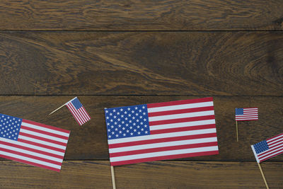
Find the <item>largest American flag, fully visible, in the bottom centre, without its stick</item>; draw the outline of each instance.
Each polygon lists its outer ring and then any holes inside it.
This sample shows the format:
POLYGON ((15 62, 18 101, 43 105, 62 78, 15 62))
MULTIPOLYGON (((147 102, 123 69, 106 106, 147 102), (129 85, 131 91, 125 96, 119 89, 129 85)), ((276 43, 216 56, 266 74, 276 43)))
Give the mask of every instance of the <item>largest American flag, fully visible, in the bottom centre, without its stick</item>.
POLYGON ((111 166, 219 154, 212 98, 105 108, 111 166))

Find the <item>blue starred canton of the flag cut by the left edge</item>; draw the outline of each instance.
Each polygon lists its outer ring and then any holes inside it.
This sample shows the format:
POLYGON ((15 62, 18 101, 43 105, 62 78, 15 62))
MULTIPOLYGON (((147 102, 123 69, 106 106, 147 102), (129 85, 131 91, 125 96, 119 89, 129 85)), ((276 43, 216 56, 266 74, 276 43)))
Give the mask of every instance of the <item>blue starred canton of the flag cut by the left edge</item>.
POLYGON ((0 137, 18 140, 18 134, 20 133, 22 120, 23 119, 21 118, 0 113, 0 137))

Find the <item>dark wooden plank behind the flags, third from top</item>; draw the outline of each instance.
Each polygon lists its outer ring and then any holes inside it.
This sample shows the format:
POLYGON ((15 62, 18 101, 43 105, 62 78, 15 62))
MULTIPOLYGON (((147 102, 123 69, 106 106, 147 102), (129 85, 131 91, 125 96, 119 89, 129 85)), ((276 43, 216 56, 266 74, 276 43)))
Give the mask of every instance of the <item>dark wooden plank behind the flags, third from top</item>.
MULTIPOLYGON (((91 115, 82 127, 67 108, 48 114, 74 96, 1 96, 1 113, 71 130, 65 159, 109 159, 104 108, 200 98, 195 96, 79 96, 91 115)), ((282 133, 283 97, 214 97, 219 155, 192 157, 202 161, 255 161, 250 144, 282 133), (259 120, 239 122, 236 142, 235 108, 258 107, 259 120)), ((277 156, 270 161, 283 161, 277 156)))

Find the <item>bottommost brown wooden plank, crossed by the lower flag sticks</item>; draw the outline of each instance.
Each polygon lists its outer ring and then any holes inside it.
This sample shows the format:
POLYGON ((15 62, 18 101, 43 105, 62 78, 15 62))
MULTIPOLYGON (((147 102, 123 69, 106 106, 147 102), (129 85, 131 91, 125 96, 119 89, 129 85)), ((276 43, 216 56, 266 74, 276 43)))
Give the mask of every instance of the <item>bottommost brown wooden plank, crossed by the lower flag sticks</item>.
MULTIPOLYGON (((283 187, 283 163, 262 163, 270 188, 283 187)), ((64 161, 55 173, 0 161, 1 188, 112 188, 108 161, 64 161)), ((115 167, 117 188, 265 188, 255 162, 155 161, 115 167)))

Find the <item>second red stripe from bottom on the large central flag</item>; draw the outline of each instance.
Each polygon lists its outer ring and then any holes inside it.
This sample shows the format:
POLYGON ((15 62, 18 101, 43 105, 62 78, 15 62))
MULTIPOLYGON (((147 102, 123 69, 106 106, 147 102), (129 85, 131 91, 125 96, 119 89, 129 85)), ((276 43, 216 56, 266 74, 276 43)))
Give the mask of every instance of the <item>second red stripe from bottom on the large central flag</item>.
POLYGON ((169 150, 175 150, 175 149, 192 149, 192 148, 200 148, 200 147, 213 147, 217 146, 217 142, 205 142, 205 143, 199 143, 199 144, 183 144, 178 146, 172 146, 172 147, 159 147, 159 148, 153 148, 153 149, 139 149, 139 150, 133 150, 133 151, 122 151, 122 152, 116 152, 109 154, 110 157, 117 157, 117 156, 129 156, 134 154, 146 154, 151 152, 157 152, 157 151, 169 151, 169 150))

